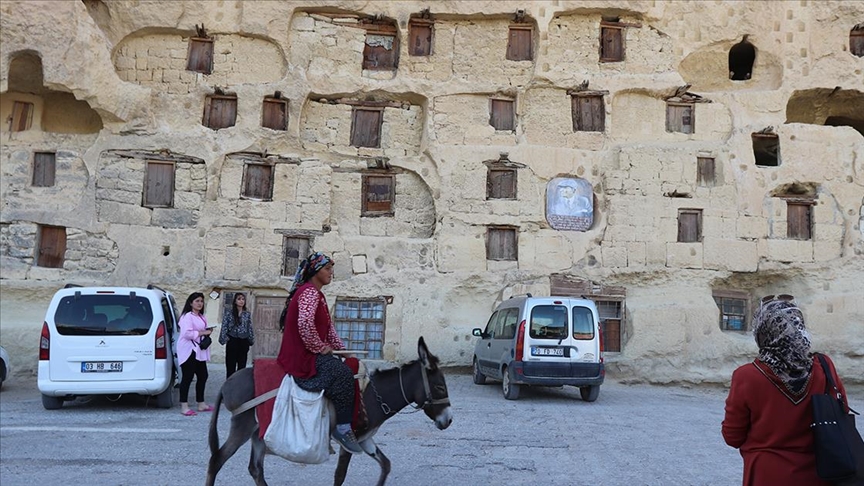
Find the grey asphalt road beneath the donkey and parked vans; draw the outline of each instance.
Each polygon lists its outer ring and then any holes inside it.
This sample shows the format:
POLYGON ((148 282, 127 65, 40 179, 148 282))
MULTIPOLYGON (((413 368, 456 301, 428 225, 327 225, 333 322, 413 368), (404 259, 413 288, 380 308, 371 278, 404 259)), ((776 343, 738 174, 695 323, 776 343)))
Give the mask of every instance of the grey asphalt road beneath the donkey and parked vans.
MULTIPOLYGON (((594 403, 575 388, 524 390, 517 401, 499 383, 474 385, 453 370, 454 422, 439 431, 422 412, 403 411, 376 437, 390 457, 389 485, 737 485, 742 463, 720 436, 726 391, 624 385, 607 380, 594 403)), ((211 366, 207 399, 224 377, 211 366)), ((860 392, 851 405, 864 409, 860 392)), ((220 415, 220 437, 229 415, 220 415)), ((16 378, 0 393, 0 484, 203 484, 210 414, 183 417, 140 397, 78 399, 42 408, 35 379, 16 378)), ((859 421, 859 428, 861 427, 859 421)), ((217 484, 254 484, 249 445, 217 484)), ((332 484, 336 456, 321 465, 265 460, 272 485, 332 484)), ((378 465, 355 456, 346 485, 372 485, 378 465)))

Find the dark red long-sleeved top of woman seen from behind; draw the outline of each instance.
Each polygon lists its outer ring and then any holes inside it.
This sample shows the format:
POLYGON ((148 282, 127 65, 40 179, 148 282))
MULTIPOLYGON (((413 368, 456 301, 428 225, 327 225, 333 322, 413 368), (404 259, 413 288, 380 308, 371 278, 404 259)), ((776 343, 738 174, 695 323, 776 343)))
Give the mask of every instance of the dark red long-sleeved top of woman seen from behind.
MULTIPOLYGON (((827 356, 825 360, 845 400, 834 363, 827 356)), ((744 458, 744 486, 830 486, 816 475, 810 429, 810 396, 824 393, 825 382, 814 357, 806 393, 796 405, 780 391, 785 389, 783 382, 758 359, 735 370, 722 430, 726 443, 744 458)))

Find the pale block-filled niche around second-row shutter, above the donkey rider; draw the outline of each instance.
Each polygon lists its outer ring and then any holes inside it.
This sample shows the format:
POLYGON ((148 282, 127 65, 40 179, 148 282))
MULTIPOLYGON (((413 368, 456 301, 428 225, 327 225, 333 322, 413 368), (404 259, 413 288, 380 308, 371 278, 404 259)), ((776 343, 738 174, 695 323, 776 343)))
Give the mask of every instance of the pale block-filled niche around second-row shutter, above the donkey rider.
MULTIPOLYGON (((300 137, 303 148, 312 152, 360 157, 416 156, 420 153, 423 124, 423 107, 412 102, 327 99, 310 95, 301 115, 300 137), (352 130, 355 130, 354 111, 362 111, 364 107, 382 111, 380 124, 377 126, 377 147, 352 145, 352 130)), ((366 135, 368 134, 364 136, 366 135)))

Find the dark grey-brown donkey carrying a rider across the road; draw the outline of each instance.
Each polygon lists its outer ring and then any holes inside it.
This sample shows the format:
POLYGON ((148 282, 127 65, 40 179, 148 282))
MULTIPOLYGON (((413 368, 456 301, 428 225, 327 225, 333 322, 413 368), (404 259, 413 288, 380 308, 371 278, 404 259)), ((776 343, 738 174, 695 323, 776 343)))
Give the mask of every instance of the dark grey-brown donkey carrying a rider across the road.
MULTIPOLYGON (((444 373, 438 368, 438 358, 429 352, 421 337, 417 342, 419 359, 406 363, 399 368, 379 370, 369 377, 369 385, 363 392, 368 426, 360 431, 357 441, 366 454, 372 456, 381 466, 378 486, 383 486, 390 473, 390 459, 381 452, 373 437, 378 428, 389 418, 395 416, 408 405, 422 409, 435 426, 444 430, 453 422, 450 411, 450 398, 444 373)), ((216 398, 213 417, 210 419, 210 463, 207 466, 207 486, 213 486, 216 474, 243 444, 252 439, 252 454, 249 459, 249 474, 255 479, 256 486, 266 486, 264 480, 264 455, 270 453, 258 432, 255 409, 251 408, 231 417, 231 431, 222 447, 219 447, 219 408, 224 400, 225 408, 234 411, 255 397, 255 383, 251 368, 234 373, 222 385, 216 398)), ((331 405, 332 407, 332 405, 331 405)), ((332 410, 331 410, 332 412, 332 410)), ((331 414, 332 415, 332 414, 331 414)), ((332 421, 331 421, 332 422, 332 421)), ((335 424, 331 423, 331 432, 335 424)), ((351 453, 339 450, 339 461, 333 484, 341 486, 348 472, 351 453)))

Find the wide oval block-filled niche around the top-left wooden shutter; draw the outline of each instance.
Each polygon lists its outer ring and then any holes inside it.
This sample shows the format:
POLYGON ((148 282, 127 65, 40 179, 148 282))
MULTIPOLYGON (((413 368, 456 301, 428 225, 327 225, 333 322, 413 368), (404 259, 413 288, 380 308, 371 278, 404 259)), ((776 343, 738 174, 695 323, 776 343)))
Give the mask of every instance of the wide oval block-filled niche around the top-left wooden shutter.
POLYGON ((212 35, 212 72, 189 71, 190 36, 182 30, 129 34, 114 48, 114 69, 123 81, 171 94, 186 94, 199 85, 273 83, 285 76, 285 56, 275 42, 240 34, 212 35))

